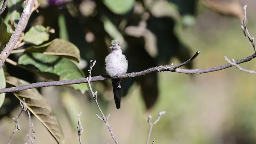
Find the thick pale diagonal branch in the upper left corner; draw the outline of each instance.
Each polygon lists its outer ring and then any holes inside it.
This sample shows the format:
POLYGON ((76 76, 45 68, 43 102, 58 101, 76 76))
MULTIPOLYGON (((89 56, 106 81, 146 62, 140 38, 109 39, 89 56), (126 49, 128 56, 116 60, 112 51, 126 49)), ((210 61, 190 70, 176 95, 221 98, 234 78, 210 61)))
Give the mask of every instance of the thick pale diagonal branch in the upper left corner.
POLYGON ((28 22, 28 18, 31 14, 31 10, 34 6, 35 0, 27 0, 26 5, 23 9, 22 15, 20 17, 20 20, 16 26, 16 29, 14 30, 9 42, 6 44, 6 47, 4 50, 2 50, 0 54, 0 69, 2 68, 6 58, 10 55, 12 50, 14 49, 14 46, 18 42, 20 35, 22 34, 22 31, 24 30, 24 26, 26 26, 28 22))

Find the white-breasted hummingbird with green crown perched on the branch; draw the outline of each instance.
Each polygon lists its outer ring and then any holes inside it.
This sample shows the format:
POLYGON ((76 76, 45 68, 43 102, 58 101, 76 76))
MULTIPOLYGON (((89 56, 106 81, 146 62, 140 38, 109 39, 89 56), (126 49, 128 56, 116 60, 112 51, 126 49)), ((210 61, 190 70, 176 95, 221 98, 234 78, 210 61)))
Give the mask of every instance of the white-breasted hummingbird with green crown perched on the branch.
MULTIPOLYGON (((106 56, 105 63, 106 63, 106 72, 109 74, 110 77, 115 77, 120 74, 124 74, 127 72, 128 69, 128 60, 126 56, 123 55, 121 46, 118 40, 111 40, 110 46, 111 52, 106 56)), ((114 99, 116 103, 116 108, 120 108, 121 102, 121 80, 122 78, 118 79, 111 79, 113 92, 114 92, 114 99)))

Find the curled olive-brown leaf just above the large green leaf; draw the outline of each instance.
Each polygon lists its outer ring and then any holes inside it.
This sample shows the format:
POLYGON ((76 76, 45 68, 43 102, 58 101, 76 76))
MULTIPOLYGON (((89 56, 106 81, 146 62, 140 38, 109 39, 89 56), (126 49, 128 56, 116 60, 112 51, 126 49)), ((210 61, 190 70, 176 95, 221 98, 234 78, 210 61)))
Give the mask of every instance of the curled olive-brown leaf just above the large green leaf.
POLYGON ((41 52, 48 55, 64 56, 76 60, 77 62, 80 60, 79 49, 71 42, 58 38, 47 44, 26 48, 25 52, 41 52))

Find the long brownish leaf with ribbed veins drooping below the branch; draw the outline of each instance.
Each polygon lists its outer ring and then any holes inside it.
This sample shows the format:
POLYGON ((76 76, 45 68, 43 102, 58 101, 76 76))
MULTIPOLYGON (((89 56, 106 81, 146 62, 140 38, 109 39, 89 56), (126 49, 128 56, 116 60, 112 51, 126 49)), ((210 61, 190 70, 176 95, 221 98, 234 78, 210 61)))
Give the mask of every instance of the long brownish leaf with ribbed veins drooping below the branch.
MULTIPOLYGON (((24 84, 28 84, 28 82, 8 76, 6 77, 6 82, 9 87, 11 86, 22 86, 24 84)), ((27 108, 42 122, 42 124, 48 129, 48 131, 52 134, 55 140, 59 144, 64 144, 64 135, 62 129, 60 128, 60 124, 56 118, 52 114, 52 109, 50 104, 44 98, 36 88, 30 90, 23 90, 20 92, 13 92, 13 94, 23 102, 23 98, 25 98, 25 102, 27 104, 27 108)))

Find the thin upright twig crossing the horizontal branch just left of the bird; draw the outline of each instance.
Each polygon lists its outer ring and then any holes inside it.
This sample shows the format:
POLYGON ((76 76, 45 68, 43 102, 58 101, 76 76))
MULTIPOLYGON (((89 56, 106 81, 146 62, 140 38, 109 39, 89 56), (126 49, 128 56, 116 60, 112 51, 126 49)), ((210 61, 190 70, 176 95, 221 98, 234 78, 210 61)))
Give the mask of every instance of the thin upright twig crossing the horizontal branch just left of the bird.
POLYGON ((113 134, 112 128, 111 128, 110 125, 108 124, 108 118, 109 118, 110 114, 108 114, 108 116, 107 116, 107 118, 106 118, 106 116, 104 115, 104 113, 102 112, 102 110, 101 110, 101 108, 100 108, 100 106, 99 106, 99 104, 98 104, 98 100, 97 100, 97 91, 96 91, 96 92, 93 92, 93 90, 92 90, 92 86, 91 86, 92 77, 91 77, 91 74, 92 74, 92 68, 94 67, 95 63, 96 63, 96 60, 93 61, 93 64, 92 64, 92 60, 90 60, 90 70, 88 70, 88 71, 89 71, 89 78, 87 78, 87 79, 88 79, 88 84, 89 84, 89 87, 90 87, 90 91, 92 92, 92 97, 93 97, 94 101, 96 102, 96 104, 97 104, 97 106, 98 106, 98 109, 100 110, 100 113, 101 113, 101 115, 102 115, 102 118, 101 118, 98 114, 96 114, 96 116, 97 116, 100 120, 102 120, 102 121, 105 122, 105 124, 106 124, 106 126, 108 127, 108 130, 109 130, 110 135, 112 136, 114 142, 115 142, 116 144, 118 144, 118 141, 117 141, 116 137, 115 137, 114 134, 113 134))

